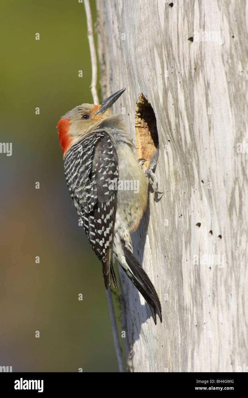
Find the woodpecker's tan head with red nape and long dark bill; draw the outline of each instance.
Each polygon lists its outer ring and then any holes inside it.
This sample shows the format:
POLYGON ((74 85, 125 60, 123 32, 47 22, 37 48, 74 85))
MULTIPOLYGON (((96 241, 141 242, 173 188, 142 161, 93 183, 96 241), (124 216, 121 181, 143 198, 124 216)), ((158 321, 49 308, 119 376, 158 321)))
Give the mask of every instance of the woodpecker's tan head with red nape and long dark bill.
POLYGON ((110 118, 110 107, 126 89, 112 94, 100 105, 83 103, 67 112, 57 124, 59 143, 65 152, 110 118))

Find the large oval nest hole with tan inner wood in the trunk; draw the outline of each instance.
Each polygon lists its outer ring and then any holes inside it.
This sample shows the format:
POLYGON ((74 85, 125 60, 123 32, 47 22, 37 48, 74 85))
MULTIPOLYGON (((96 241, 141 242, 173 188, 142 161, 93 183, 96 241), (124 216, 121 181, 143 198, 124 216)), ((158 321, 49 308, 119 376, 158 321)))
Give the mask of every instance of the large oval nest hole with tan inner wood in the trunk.
POLYGON ((159 143, 155 113, 152 105, 143 94, 139 95, 136 102, 135 136, 137 158, 147 160, 144 163, 145 169, 147 169, 152 156, 159 147, 159 143))

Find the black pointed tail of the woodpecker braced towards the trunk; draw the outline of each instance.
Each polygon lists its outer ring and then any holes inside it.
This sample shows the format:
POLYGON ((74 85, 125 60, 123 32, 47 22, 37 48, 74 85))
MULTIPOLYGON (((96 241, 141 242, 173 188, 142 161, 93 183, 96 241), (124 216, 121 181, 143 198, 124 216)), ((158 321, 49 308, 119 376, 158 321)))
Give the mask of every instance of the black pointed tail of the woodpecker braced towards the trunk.
POLYGON ((122 243, 122 250, 126 259, 126 263, 128 264, 128 267, 125 267, 125 265, 121 263, 120 265, 122 266, 126 275, 128 275, 132 283, 134 283, 138 291, 142 294, 147 304, 149 305, 152 311, 152 316, 155 325, 157 324, 156 314, 159 316, 160 322, 162 322, 161 304, 159 301, 159 297, 155 291, 154 285, 148 278, 148 275, 141 267, 138 260, 125 247, 123 243, 122 243))

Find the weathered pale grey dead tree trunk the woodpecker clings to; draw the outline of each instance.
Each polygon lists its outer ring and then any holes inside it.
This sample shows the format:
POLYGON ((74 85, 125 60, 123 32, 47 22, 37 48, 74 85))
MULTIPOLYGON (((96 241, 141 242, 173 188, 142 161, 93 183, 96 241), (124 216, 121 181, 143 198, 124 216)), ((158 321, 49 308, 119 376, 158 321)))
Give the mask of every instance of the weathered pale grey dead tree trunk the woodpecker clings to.
POLYGON ((237 371, 248 365, 248 154, 237 152, 248 146, 248 2, 97 0, 97 8, 104 98, 126 87, 114 111, 125 108, 142 153, 153 142, 146 109, 136 114, 143 94, 160 148, 164 194, 150 193, 132 238, 163 322, 154 325, 120 272, 130 369, 237 371))

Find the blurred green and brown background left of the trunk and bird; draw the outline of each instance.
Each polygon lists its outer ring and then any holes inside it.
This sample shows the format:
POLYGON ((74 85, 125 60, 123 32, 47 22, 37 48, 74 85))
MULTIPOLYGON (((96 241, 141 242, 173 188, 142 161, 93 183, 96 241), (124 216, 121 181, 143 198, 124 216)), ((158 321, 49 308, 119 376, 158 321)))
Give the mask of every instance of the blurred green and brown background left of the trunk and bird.
POLYGON ((78 226, 56 130, 67 111, 93 102, 84 5, 9 0, 1 9, 0 142, 12 142, 12 156, 0 153, 0 365, 115 372, 101 264, 78 226))

